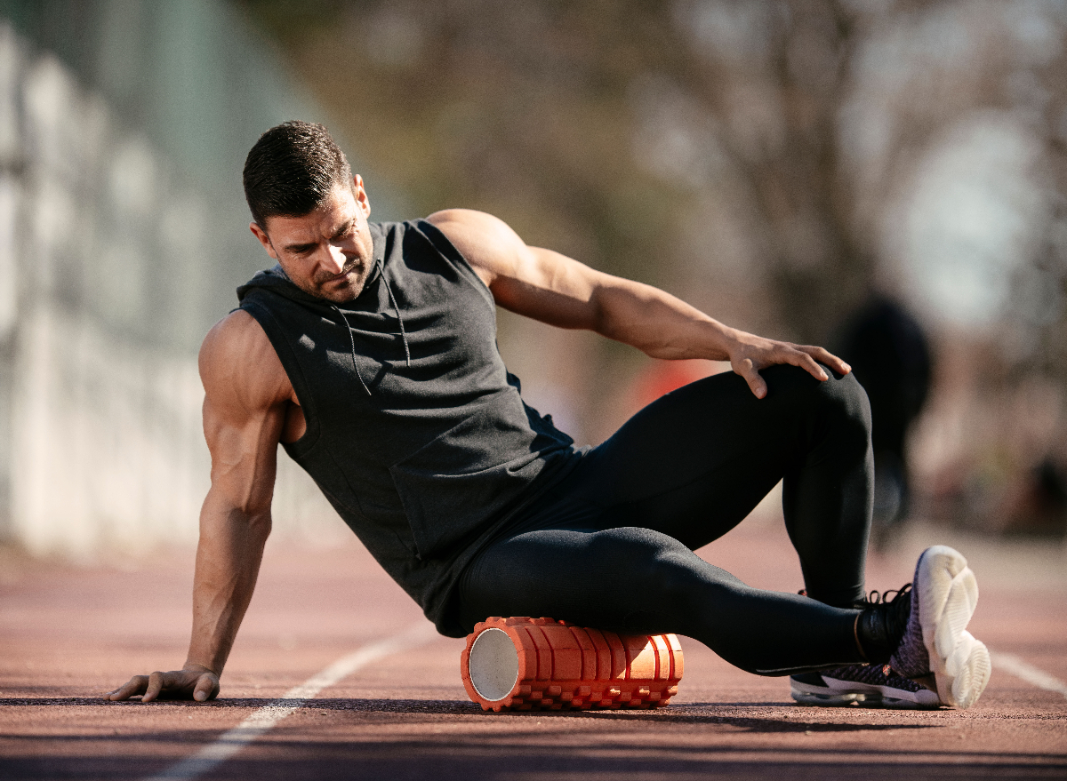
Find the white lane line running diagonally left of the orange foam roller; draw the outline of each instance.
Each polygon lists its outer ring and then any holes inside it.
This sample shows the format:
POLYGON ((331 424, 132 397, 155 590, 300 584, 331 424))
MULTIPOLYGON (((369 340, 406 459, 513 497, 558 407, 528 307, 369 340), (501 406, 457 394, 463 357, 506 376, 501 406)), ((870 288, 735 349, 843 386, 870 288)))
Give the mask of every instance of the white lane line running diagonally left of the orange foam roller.
POLYGON ((300 686, 289 689, 269 705, 264 705, 214 743, 205 746, 192 756, 171 765, 162 772, 149 777, 146 781, 191 781, 225 762, 257 737, 269 732, 274 724, 328 686, 333 686, 371 662, 377 662, 393 653, 425 645, 436 636, 432 624, 420 621, 399 635, 394 635, 370 645, 364 645, 359 651, 343 656, 321 672, 312 675, 300 686))

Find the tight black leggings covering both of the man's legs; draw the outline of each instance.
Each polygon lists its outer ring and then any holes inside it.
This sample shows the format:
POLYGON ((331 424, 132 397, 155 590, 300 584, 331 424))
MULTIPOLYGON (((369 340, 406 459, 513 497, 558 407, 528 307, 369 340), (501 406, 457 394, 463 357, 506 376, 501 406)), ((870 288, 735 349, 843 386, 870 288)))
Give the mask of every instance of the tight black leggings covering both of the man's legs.
POLYGON ((871 522, 866 395, 850 374, 761 373, 764 399, 740 377, 716 374, 649 404, 590 450, 466 568, 464 626, 550 616, 672 632, 767 675, 860 662, 851 605, 864 593, 871 522), (813 599, 751 588, 692 553, 779 480, 813 599))

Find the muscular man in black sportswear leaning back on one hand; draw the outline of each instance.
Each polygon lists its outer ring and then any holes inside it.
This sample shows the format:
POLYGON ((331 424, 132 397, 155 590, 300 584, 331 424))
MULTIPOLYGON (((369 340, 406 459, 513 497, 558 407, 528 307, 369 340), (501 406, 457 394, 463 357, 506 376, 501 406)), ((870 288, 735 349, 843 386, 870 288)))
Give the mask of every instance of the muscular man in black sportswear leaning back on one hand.
POLYGON ((217 696, 270 532, 278 443, 445 635, 551 616, 695 637, 792 674, 806 702, 977 699, 989 660, 964 629, 977 587, 958 553, 930 548, 913 589, 864 599, 870 413, 841 360, 527 246, 489 214, 370 224, 363 180, 319 125, 264 133, 244 190, 277 266, 239 288, 201 349, 212 465, 189 656, 109 699, 217 696), (523 403, 496 305, 734 373, 575 449, 523 403), (807 595, 749 588, 692 553, 779 480, 807 595))

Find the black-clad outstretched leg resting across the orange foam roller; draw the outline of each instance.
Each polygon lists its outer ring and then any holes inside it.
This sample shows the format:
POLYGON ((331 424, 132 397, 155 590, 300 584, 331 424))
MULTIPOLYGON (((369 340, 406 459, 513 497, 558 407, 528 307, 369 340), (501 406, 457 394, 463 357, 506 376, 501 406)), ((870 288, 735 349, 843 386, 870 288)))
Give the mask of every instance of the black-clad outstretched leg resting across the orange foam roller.
POLYGON ((652 529, 538 529, 482 551, 459 584, 469 632, 490 616, 532 616, 620 633, 672 632, 751 672, 859 660, 857 610, 753 589, 652 529))

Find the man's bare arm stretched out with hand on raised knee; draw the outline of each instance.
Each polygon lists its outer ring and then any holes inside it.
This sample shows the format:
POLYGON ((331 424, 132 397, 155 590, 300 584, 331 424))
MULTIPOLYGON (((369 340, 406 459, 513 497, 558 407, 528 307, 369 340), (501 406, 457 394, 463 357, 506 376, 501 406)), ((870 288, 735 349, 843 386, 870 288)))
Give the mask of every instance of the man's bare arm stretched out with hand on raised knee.
POLYGON ((658 358, 729 361, 758 397, 767 393, 759 370, 774 364, 803 367, 827 379, 816 361, 847 373, 821 347, 766 339, 723 325, 650 285, 611 276, 552 250, 528 246, 500 220, 448 209, 430 222, 463 253, 506 309, 567 329, 587 329, 658 358))

